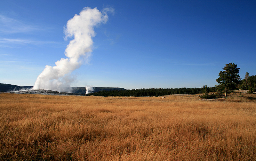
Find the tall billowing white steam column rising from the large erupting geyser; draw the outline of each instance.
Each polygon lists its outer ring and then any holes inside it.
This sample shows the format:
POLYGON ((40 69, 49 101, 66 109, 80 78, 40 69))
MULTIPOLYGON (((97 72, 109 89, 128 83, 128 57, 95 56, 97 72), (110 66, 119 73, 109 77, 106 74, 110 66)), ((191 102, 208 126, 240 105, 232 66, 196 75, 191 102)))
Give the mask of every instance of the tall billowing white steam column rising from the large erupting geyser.
POLYGON ((68 58, 61 58, 55 62, 56 66, 46 65, 44 71, 39 74, 33 89, 48 89, 55 91, 68 91, 73 78, 70 74, 85 62, 92 52, 92 37, 95 36, 94 26, 106 23, 108 15, 105 8, 100 12, 97 8, 84 8, 79 15, 68 20, 65 27, 65 38, 72 39, 66 50, 68 58))

